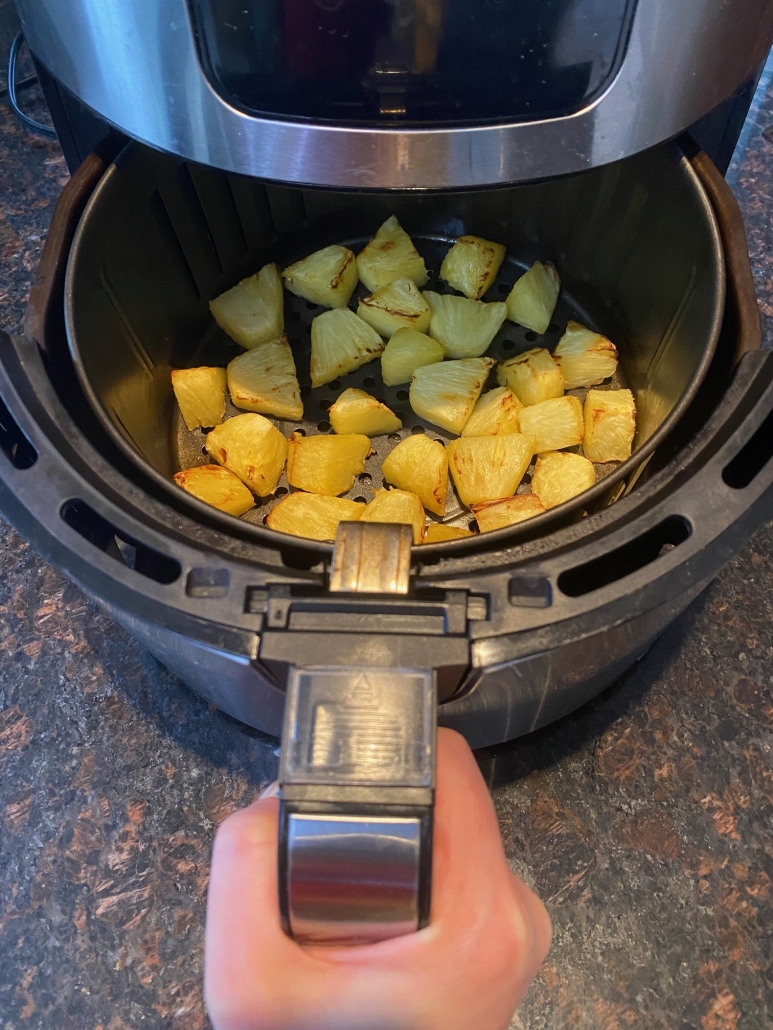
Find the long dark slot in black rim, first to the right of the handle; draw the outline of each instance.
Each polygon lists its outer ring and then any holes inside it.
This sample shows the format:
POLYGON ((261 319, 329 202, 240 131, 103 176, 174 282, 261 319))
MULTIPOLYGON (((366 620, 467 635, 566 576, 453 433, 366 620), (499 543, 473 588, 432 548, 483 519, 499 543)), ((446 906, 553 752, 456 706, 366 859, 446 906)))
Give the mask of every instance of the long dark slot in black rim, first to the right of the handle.
POLYGON ((661 554, 683 544, 691 533, 686 519, 671 515, 636 540, 609 551, 603 557, 566 570, 559 576, 559 589, 569 597, 581 597, 592 590, 616 583, 651 564, 661 554))

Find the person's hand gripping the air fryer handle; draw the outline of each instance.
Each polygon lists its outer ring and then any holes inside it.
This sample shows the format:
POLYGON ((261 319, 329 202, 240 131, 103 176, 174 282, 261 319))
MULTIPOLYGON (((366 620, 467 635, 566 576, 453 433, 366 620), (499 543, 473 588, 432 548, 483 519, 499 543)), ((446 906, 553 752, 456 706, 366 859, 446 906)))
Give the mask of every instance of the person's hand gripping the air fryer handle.
POLYGON ((278 799, 214 842, 204 988, 215 1030, 505 1030, 550 921, 508 868, 489 791, 459 733, 438 730, 430 925, 357 948, 303 948, 279 922, 278 799))

